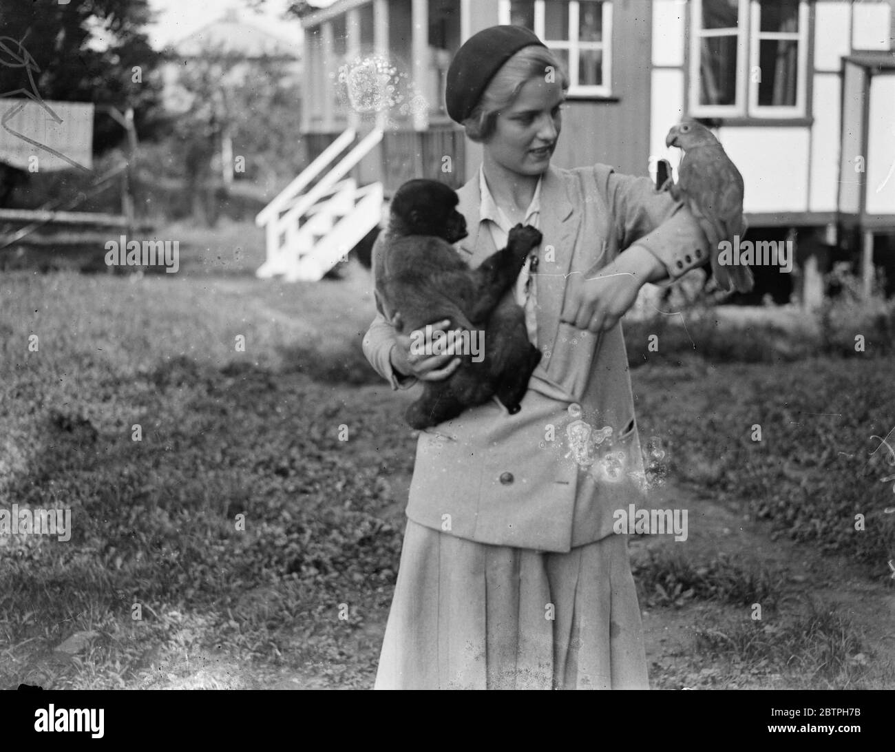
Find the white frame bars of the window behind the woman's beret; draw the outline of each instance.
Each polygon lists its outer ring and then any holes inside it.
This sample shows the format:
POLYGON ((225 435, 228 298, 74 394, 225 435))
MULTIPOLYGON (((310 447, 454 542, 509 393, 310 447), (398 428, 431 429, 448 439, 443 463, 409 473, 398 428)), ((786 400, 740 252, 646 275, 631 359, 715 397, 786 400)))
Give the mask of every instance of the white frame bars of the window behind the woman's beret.
MULTIPOLYGON (((612 98, 612 0, 597 0, 601 2, 603 38, 600 42, 579 41, 579 10, 580 3, 592 2, 592 0, 568 0, 568 38, 548 39, 544 34, 546 19, 546 3, 551 0, 531 0, 534 5, 534 33, 537 34, 550 50, 566 50, 568 53, 568 79, 569 88, 567 98, 612 98), (579 53, 584 50, 601 50, 602 80, 600 85, 584 85, 578 83, 579 53)), ((509 24, 510 0, 499 0, 498 22, 509 24)))

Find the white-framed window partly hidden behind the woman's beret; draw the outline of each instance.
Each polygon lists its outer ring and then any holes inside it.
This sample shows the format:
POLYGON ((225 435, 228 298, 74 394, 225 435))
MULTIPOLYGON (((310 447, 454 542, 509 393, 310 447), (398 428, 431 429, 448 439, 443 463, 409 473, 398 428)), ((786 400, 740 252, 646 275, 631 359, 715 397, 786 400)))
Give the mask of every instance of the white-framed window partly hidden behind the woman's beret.
POLYGON ((611 95, 609 0, 500 0, 499 22, 543 39, 567 70, 570 97, 611 95))

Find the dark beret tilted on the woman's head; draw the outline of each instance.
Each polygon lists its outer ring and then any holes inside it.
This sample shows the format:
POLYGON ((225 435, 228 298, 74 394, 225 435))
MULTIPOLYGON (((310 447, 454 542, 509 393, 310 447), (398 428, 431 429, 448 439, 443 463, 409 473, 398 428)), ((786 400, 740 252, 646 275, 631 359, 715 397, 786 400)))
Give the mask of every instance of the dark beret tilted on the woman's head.
POLYGON ((520 49, 532 45, 547 47, 522 26, 490 26, 466 39, 447 69, 447 115, 463 123, 500 67, 520 49))

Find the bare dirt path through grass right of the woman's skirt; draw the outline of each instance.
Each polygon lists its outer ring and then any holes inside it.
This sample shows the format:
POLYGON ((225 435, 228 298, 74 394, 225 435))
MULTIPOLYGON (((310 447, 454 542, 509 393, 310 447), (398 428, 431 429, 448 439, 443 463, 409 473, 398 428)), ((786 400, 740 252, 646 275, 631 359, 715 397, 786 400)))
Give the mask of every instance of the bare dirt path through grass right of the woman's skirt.
MULTIPOLYGON (((637 560, 649 549, 683 548, 691 560, 712 560, 727 554, 745 567, 763 565, 779 570, 784 584, 776 611, 765 611, 765 620, 786 623, 810 608, 809 601, 835 605, 861 634, 868 685, 880 688, 891 681, 895 666, 895 594, 884 582, 873 582, 864 568, 843 556, 823 555, 816 548, 774 535, 771 526, 750 521, 734 505, 723 505, 698 490, 669 483, 654 491, 652 506, 687 508, 689 535, 686 543, 669 536, 641 537, 632 541, 637 560)), ((741 505, 745 508, 745 503, 741 505)), ((690 601, 683 607, 648 607, 644 614, 647 661, 654 687, 711 688, 719 667, 693 650, 695 630, 714 624, 751 620, 750 608, 719 602, 690 601)), ((742 677, 743 688, 785 688, 780 679, 742 677)), ((891 688, 891 685, 890 685, 891 688)))

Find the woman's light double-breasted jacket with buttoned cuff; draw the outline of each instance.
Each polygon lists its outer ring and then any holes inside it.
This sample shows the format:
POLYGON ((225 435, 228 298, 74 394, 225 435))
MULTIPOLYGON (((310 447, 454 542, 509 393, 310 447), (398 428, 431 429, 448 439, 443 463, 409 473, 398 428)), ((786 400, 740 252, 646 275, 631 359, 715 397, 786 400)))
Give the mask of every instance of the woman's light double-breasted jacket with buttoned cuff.
MULTIPOLYGON (((497 250, 482 231, 478 175, 457 195, 469 227, 458 252, 474 268, 497 250)), ((613 534, 616 509, 644 504, 644 467, 621 325, 592 335, 560 323, 567 280, 590 276, 636 242, 663 263, 670 284, 708 261, 708 243, 689 210, 655 192, 649 178, 618 175, 605 165, 549 167, 541 184, 541 232, 543 357, 522 409, 509 415, 490 402, 420 432, 406 513, 420 525, 479 543, 569 551, 613 534), (590 465, 576 462, 578 421, 593 431, 611 428, 611 445, 600 446, 609 455, 590 465)), ((376 261, 374 247, 374 273, 376 261)), ((395 336, 377 314, 363 352, 394 389, 407 388, 415 380, 399 381, 389 361, 395 336)))

